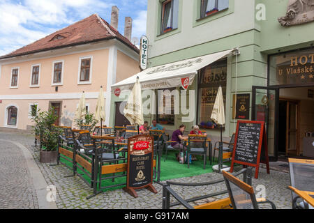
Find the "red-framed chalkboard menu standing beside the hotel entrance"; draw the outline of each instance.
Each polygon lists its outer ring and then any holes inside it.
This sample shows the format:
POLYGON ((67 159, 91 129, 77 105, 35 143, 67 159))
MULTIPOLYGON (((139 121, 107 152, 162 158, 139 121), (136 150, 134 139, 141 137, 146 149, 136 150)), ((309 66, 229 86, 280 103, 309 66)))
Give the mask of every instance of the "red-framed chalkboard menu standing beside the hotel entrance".
POLYGON ((260 162, 267 165, 269 174, 269 157, 267 148, 267 135, 263 121, 238 121, 234 140, 234 150, 230 172, 234 164, 255 167, 255 178, 258 178, 260 162), (261 160, 261 152, 263 159, 261 160))

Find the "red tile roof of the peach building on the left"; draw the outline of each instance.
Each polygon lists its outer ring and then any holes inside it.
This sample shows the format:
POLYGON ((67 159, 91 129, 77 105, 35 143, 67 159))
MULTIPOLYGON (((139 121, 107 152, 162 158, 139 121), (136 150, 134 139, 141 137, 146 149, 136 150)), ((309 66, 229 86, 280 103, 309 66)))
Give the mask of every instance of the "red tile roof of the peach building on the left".
POLYGON ((128 45, 128 47, 133 49, 135 52, 139 52, 139 49, 130 43, 130 40, 121 35, 121 33, 110 26, 110 24, 108 24, 97 14, 94 14, 85 18, 84 20, 75 22, 66 28, 60 29, 59 31, 41 38, 34 43, 17 49, 10 54, 0 56, 0 59, 43 52, 50 49, 58 49, 73 45, 82 45, 100 40, 109 40, 113 38, 117 38, 117 40, 120 40, 122 43, 128 45))

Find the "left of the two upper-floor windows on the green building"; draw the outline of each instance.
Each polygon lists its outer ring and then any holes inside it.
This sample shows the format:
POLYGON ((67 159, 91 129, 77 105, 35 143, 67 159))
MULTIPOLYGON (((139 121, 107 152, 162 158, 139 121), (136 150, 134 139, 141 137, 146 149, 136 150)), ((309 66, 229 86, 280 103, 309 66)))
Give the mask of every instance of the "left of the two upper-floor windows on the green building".
POLYGON ((167 0, 162 3, 161 31, 167 33, 178 28, 179 0, 167 0))

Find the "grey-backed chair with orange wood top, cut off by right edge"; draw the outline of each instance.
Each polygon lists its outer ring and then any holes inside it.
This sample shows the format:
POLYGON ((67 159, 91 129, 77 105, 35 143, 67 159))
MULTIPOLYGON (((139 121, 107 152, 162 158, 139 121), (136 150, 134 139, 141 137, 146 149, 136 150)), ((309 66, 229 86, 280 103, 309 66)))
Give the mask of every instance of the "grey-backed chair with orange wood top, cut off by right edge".
MULTIPOLYGON (((297 190, 314 192, 314 160, 288 159, 291 186, 297 190)), ((292 209, 314 209, 292 191, 292 209)))

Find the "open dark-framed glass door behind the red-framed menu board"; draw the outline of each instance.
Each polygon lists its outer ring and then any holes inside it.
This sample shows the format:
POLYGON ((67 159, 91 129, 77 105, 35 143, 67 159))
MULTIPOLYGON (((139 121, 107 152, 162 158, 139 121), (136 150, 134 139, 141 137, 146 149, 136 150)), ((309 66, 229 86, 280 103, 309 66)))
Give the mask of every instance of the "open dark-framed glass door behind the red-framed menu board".
POLYGON ((279 89, 264 86, 252 87, 253 121, 264 121, 267 131, 269 160, 278 159, 278 104, 279 89))

